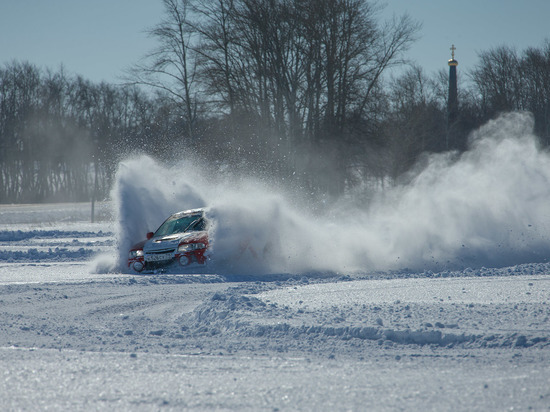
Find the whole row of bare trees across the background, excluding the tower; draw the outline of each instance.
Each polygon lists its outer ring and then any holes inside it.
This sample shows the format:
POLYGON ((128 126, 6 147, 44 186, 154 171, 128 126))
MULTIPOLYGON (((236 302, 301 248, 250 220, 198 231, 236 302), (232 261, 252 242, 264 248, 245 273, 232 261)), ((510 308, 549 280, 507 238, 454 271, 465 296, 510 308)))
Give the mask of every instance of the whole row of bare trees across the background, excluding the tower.
MULTIPOLYGON (((420 26, 365 0, 163 0, 158 47, 125 85, 12 62, 0 69, 0 202, 108 196, 120 159, 192 156, 313 196, 368 196, 446 150, 448 68, 405 64, 420 26)), ((550 44, 459 66, 461 144, 528 110, 550 144, 550 44)))

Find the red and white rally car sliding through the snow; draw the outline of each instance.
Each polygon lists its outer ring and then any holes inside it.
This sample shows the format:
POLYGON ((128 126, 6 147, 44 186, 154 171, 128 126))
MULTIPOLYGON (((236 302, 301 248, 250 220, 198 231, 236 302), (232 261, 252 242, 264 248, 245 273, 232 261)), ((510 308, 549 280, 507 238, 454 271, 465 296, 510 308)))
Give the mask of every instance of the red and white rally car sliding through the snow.
POLYGON ((203 209, 186 210, 170 216, 156 232, 130 249, 128 267, 136 272, 172 266, 206 264, 208 220, 203 209))

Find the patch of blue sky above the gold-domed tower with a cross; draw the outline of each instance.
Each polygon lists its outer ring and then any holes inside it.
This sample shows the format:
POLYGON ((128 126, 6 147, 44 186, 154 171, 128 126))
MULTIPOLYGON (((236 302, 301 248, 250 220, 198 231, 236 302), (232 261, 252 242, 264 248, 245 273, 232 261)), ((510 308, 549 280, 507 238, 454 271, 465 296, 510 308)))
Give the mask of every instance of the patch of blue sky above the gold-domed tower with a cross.
POLYGON ((501 45, 542 47, 550 40, 550 0, 388 0, 384 15, 407 12, 422 23, 407 56, 428 73, 447 70, 456 46, 458 69, 471 70, 478 53, 501 45))

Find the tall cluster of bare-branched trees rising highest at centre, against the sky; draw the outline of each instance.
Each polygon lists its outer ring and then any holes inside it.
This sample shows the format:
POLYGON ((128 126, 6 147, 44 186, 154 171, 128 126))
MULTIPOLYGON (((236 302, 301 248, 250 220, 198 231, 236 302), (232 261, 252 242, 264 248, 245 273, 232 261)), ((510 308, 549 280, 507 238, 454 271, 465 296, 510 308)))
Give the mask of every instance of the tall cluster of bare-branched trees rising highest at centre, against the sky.
POLYGON ((344 162, 364 132, 353 131, 357 119, 374 117, 381 75, 402 63, 419 30, 406 15, 379 25, 380 8, 366 0, 203 0, 196 9, 210 97, 256 117, 289 159, 316 144, 344 162))

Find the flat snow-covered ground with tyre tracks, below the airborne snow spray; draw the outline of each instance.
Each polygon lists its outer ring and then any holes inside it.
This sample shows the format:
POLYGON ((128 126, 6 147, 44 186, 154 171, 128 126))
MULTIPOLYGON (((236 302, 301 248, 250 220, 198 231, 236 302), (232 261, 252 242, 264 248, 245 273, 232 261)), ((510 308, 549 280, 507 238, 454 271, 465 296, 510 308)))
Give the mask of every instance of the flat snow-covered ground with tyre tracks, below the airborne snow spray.
POLYGON ((3 410, 549 410, 550 264, 98 274, 109 205, 0 206, 3 410))

